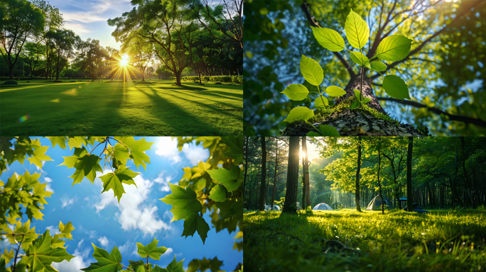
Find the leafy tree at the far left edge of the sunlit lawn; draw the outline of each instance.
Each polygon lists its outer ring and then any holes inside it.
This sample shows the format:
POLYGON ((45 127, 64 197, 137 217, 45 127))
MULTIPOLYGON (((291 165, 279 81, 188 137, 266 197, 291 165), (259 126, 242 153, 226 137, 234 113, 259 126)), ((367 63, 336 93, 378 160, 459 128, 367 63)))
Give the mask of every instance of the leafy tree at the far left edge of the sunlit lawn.
POLYGON ((2 57, 9 66, 9 77, 13 80, 13 67, 18 60, 22 47, 32 35, 39 35, 45 24, 44 16, 39 8, 26 0, 6 1, 6 12, 1 18, 3 28, 0 42, 4 50, 2 57))

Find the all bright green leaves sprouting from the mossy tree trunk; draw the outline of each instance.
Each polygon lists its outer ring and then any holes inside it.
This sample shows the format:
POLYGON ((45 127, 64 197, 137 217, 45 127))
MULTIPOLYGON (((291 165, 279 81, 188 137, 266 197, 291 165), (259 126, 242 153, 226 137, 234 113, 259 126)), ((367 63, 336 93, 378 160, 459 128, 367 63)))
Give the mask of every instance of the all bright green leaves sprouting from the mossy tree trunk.
MULTIPOLYGON (((345 47, 344 39, 337 31, 330 28, 311 28, 313 30, 315 39, 324 48, 332 52, 339 52, 344 49, 348 50, 345 47)), ((364 47, 369 40, 369 28, 365 20, 363 20, 361 16, 359 16, 352 10, 346 18, 345 33, 347 41, 350 43, 350 45, 360 50, 348 51, 350 52, 351 60, 355 62, 355 64, 358 64, 360 65, 360 67, 362 67, 361 77, 363 77, 365 68, 372 69, 378 73, 387 70, 387 64, 384 64, 379 60, 372 61, 374 58, 392 62, 403 60, 404 57, 409 54, 412 42, 411 39, 406 38, 404 35, 389 35, 387 38, 384 38, 379 43, 377 48, 377 55, 375 55, 371 59, 368 59, 368 57, 362 53, 362 47, 364 47)), ((324 74, 323 69, 322 67, 320 67, 320 64, 318 64, 318 62, 311 59, 310 57, 302 55, 300 67, 301 73, 308 84, 317 87, 322 84, 324 74)), ((408 86, 406 86, 403 79, 395 75, 387 75, 386 77, 383 77, 383 88, 389 96, 398 99, 410 99, 408 86)), ((346 94, 346 91, 338 86, 328 86, 325 91, 320 91, 319 88, 317 89, 319 96, 318 98, 315 98, 315 108, 326 108, 329 106, 328 99, 323 96, 323 93, 333 97, 343 96, 346 94)), ((351 102, 350 109, 363 108, 366 103, 372 101, 372 98, 364 97, 362 95, 362 91, 357 89, 353 89, 353 91, 355 92, 355 100, 351 102)), ((293 101, 301 101, 308 96, 309 91, 303 84, 291 84, 287 86, 284 91, 282 91, 282 94, 285 94, 293 101)), ((308 120, 312 118, 313 115, 313 110, 300 106, 293 108, 290 113, 288 113, 288 116, 284 121, 291 123, 296 120, 308 120)), ((325 130, 318 131, 321 132, 320 134, 322 135, 332 136, 328 134, 323 134, 322 132, 326 132, 325 130)))

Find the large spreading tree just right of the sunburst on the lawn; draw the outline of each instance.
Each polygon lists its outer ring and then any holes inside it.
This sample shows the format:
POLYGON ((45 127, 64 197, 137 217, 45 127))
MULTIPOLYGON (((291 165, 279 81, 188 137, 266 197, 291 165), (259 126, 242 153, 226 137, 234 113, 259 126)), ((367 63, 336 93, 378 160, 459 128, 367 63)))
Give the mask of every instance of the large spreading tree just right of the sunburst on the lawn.
POLYGON ((153 51, 175 74, 177 85, 180 77, 193 60, 192 45, 198 25, 190 18, 191 10, 184 0, 132 1, 138 5, 121 17, 109 19, 109 26, 116 26, 112 36, 128 42, 129 38, 143 38, 153 43, 153 51))

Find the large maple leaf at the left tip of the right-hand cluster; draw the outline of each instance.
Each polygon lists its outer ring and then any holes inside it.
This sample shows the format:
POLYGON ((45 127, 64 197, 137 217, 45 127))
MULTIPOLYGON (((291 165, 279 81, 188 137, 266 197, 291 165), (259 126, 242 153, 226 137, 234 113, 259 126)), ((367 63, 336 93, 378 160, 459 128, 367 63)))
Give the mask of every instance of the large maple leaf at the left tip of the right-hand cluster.
POLYGON ((187 189, 181 186, 169 183, 172 193, 161 198, 164 203, 172 205, 171 212, 173 218, 171 222, 188 219, 193 213, 200 212, 202 205, 198 199, 196 199, 196 193, 188 187, 187 189))

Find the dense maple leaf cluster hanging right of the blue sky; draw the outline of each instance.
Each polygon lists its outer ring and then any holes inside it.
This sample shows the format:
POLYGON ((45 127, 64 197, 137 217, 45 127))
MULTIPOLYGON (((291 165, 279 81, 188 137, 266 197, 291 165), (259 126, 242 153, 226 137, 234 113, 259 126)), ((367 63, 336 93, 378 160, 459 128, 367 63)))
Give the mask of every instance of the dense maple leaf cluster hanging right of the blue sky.
MULTIPOLYGON (((181 137, 179 150, 193 141, 207 148, 210 158, 183 169, 179 185, 169 184, 172 193, 161 200, 173 205, 173 221, 184 220, 182 236, 193 236, 197 231, 204 244, 210 229, 202 217, 205 212, 212 211, 211 222, 217 232, 234 232, 242 220, 243 137, 181 137)), ((239 238, 242 232, 235 237, 239 238)), ((235 242, 234 248, 241 250, 242 242, 235 242)))

